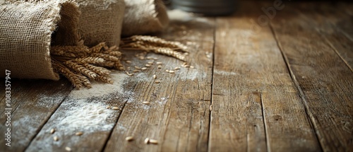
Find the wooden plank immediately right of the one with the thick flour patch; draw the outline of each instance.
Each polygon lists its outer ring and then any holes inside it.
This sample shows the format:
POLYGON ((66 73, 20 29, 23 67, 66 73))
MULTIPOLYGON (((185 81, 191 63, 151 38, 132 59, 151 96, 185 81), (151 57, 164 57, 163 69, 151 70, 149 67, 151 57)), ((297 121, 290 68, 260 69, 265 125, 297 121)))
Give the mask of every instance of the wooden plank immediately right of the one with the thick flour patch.
MULTIPOLYGON (((191 20, 185 22, 171 18, 171 28, 174 23, 184 25, 186 30, 208 31, 214 27, 213 18, 190 17, 191 20), (200 19, 207 21, 201 29, 189 23, 200 19)), ((161 36, 168 37, 166 35, 161 36)), ((153 65, 139 76, 144 76, 145 80, 133 90, 105 151, 207 151, 213 51, 213 41, 210 40, 213 40, 213 33, 193 37, 198 40, 182 42, 188 44, 188 63, 196 69, 183 67, 183 62, 176 59, 159 57, 162 69, 153 65), (175 74, 165 71, 176 66, 181 69, 175 70, 175 74), (154 74, 156 80, 152 78, 154 74), (150 105, 143 102, 150 102, 150 105), (135 140, 125 141, 127 136, 133 136, 135 140), (145 138, 157 139, 158 144, 144 144, 145 138)), ((177 35, 169 38, 178 40, 177 35)))

